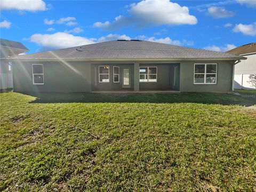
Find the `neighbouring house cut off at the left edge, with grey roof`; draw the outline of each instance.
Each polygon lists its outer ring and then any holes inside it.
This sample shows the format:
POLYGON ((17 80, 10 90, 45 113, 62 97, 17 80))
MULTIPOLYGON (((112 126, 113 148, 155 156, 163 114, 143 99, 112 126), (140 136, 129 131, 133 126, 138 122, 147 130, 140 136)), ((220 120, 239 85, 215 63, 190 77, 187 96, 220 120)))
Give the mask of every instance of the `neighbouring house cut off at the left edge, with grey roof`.
POLYGON ((4 58, 28 51, 22 43, 0 39, 0 89, 12 89, 12 63, 4 58))

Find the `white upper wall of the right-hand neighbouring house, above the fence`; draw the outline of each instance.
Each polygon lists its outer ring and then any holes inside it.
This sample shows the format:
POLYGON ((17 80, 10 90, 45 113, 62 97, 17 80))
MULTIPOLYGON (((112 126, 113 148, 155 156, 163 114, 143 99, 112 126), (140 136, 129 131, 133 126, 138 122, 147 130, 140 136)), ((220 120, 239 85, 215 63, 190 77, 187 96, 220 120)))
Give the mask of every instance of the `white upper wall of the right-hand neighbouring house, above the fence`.
POLYGON ((253 75, 256 74, 256 54, 244 55, 246 60, 241 60, 241 62, 235 65, 235 75, 253 75))

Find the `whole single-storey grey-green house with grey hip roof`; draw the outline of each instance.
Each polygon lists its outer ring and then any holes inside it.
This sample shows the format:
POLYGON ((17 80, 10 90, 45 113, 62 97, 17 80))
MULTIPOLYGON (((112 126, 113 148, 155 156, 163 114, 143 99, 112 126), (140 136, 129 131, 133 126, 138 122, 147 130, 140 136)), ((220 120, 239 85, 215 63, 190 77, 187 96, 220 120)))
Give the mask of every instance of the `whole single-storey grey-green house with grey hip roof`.
POLYGON ((15 92, 231 92, 242 56, 116 40, 11 57, 15 92))

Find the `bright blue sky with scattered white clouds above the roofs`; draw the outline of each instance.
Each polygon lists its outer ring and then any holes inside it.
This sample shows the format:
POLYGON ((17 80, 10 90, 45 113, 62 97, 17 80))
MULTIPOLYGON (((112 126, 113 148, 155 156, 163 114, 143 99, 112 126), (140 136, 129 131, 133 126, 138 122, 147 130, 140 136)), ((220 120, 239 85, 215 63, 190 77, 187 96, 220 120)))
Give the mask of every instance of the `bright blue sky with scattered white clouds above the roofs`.
POLYGON ((227 51, 256 42, 256 0, 2 0, 0 27, 28 53, 121 38, 227 51))

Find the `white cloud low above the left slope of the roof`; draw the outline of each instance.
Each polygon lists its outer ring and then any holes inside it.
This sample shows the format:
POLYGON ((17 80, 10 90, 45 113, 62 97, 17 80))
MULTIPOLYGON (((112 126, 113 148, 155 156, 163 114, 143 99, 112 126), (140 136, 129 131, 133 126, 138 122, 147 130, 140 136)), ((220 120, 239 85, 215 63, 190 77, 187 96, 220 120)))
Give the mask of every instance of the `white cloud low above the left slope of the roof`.
POLYGON ((29 37, 28 40, 48 49, 63 49, 67 47, 95 43, 95 39, 93 38, 74 36, 63 32, 54 34, 34 34, 29 37))

